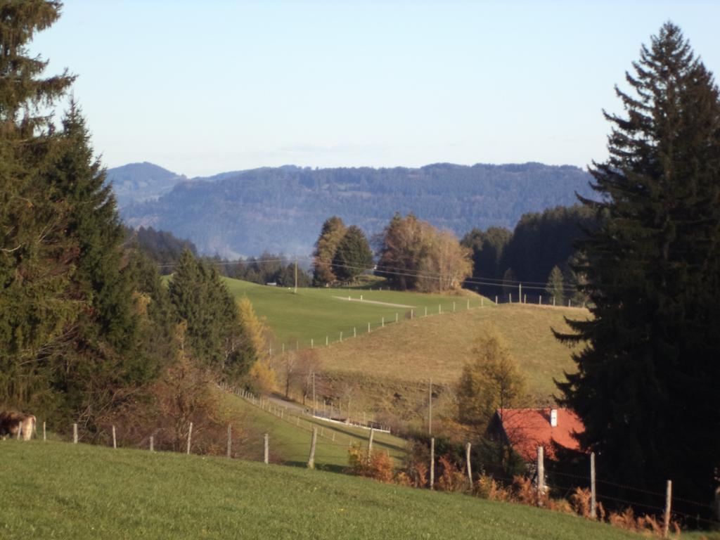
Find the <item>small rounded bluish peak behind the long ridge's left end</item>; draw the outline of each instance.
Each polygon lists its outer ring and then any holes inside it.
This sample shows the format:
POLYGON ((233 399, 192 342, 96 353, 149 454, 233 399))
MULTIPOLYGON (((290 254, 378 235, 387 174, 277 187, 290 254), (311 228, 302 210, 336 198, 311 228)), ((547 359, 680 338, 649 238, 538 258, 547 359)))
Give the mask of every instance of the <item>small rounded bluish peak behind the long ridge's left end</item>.
POLYGON ((185 176, 175 174, 153 163, 129 163, 122 167, 109 168, 107 181, 120 207, 128 204, 157 199, 168 193, 185 176))

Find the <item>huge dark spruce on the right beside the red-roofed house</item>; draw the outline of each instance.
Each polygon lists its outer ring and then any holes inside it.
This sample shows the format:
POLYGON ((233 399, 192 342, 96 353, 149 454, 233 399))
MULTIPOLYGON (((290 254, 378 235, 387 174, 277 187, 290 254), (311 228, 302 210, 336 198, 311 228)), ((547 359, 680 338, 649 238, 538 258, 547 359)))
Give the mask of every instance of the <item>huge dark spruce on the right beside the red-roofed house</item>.
POLYGON ((601 218, 576 268, 593 318, 560 336, 586 346, 559 387, 608 480, 658 490, 669 478, 708 501, 720 467, 719 94, 670 22, 626 81, 625 116, 606 114, 610 157, 590 171, 600 202, 583 200, 601 218))

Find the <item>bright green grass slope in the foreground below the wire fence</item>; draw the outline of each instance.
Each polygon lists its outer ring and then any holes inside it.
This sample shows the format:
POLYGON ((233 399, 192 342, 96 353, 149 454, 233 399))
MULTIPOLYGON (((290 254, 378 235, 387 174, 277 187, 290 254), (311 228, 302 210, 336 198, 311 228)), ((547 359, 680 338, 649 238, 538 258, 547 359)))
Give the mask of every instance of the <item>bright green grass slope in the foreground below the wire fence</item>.
POLYGON ((575 516, 223 458, 0 442, 3 539, 636 539, 575 516))

